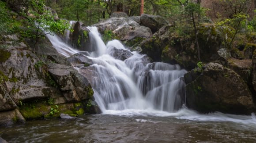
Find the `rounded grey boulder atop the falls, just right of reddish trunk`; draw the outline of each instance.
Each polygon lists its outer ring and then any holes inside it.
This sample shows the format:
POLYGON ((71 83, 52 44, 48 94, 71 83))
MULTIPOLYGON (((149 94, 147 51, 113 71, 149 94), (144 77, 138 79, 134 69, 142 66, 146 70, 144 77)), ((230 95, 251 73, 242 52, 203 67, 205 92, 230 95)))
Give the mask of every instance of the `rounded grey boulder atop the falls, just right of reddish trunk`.
POLYGON ((159 15, 142 14, 140 17, 140 21, 142 25, 149 27, 153 33, 157 32, 163 26, 169 24, 169 22, 167 22, 159 15))

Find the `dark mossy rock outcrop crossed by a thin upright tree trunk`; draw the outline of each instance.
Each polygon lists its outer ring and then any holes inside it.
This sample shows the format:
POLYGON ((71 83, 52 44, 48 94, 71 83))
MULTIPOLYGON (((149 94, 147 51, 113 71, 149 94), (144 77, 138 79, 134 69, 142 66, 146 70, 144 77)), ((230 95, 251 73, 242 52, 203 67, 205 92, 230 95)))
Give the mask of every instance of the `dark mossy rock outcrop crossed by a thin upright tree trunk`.
MULTIPOLYGON (((166 25, 155 32, 150 39, 141 43, 142 52, 153 61, 163 61, 170 64, 181 64, 187 70, 196 67, 198 60, 196 41, 179 36, 172 30, 173 25, 166 25)), ((216 61, 220 57, 229 57, 230 51, 222 49, 224 41, 230 39, 229 29, 215 25, 203 25, 198 28, 198 43, 202 62, 216 61), (221 29, 225 29, 223 33, 221 29), (226 34, 223 39, 223 34, 226 34), (221 50, 222 49, 222 50, 221 50)))

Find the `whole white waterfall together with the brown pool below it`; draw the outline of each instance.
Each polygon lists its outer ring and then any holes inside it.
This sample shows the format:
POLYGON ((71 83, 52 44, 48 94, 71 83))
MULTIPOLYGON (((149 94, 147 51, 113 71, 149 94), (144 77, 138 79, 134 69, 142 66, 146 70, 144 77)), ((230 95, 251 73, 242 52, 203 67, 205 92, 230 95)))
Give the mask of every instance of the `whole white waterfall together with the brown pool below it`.
MULTIPOLYGON (((88 29, 94 45, 87 52, 95 72, 90 82, 102 114, 28 121, 1 128, 2 138, 11 143, 256 141, 254 114, 198 114, 187 109, 182 80, 186 71, 179 65, 150 63, 136 52, 118 60, 116 50, 124 52, 125 47, 118 40, 105 45, 97 28, 88 29)), ((85 53, 56 35, 47 37, 65 57, 85 53)), ((83 75, 83 67, 75 68, 83 75)))

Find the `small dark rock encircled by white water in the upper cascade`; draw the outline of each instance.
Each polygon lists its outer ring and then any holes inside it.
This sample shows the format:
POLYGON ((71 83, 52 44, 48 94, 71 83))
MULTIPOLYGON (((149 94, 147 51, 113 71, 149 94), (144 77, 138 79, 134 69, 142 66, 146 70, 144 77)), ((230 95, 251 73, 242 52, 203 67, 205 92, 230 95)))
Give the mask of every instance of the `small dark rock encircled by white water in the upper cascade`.
POLYGON ((132 57, 133 54, 128 50, 117 49, 113 47, 111 48, 111 50, 109 50, 109 55, 114 57, 115 59, 124 61, 125 59, 132 57))

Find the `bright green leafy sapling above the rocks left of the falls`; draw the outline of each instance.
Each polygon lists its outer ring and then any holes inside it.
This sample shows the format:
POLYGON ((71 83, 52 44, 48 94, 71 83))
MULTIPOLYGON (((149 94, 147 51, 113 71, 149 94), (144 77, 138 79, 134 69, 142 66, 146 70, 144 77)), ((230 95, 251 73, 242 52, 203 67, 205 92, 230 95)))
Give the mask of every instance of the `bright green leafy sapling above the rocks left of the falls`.
POLYGON ((26 11, 21 13, 26 18, 24 21, 26 30, 22 30, 20 33, 25 38, 35 39, 34 48, 38 39, 44 38, 46 34, 63 33, 65 29, 69 28, 68 22, 54 20, 51 11, 45 9, 44 0, 31 0, 27 10, 29 13, 26 11))

